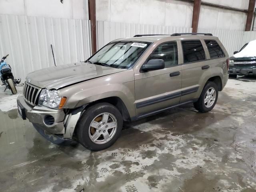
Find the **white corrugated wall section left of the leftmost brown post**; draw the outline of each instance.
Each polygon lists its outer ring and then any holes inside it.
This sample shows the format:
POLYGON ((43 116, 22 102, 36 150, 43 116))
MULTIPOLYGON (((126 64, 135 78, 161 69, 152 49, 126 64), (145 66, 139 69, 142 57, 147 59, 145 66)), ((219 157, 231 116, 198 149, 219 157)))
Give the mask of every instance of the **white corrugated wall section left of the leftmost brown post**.
POLYGON ((15 77, 25 80, 29 72, 85 60, 91 55, 90 21, 0 15, 0 56, 15 77))

